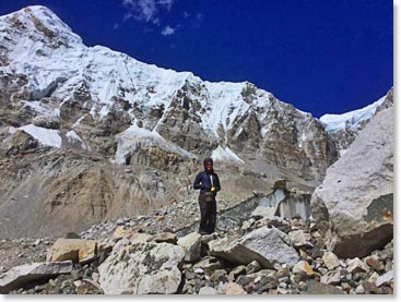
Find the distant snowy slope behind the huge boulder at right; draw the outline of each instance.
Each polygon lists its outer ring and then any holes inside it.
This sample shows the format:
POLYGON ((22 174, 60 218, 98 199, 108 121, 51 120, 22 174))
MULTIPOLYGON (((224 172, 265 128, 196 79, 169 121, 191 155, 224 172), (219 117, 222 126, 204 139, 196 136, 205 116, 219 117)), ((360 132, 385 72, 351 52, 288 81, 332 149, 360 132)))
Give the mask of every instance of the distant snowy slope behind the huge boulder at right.
POLYGON ((319 120, 325 124, 325 129, 328 132, 337 132, 340 130, 357 130, 357 128, 365 121, 369 120, 386 99, 386 96, 381 97, 377 101, 354 111, 350 111, 343 114, 325 114, 319 120))

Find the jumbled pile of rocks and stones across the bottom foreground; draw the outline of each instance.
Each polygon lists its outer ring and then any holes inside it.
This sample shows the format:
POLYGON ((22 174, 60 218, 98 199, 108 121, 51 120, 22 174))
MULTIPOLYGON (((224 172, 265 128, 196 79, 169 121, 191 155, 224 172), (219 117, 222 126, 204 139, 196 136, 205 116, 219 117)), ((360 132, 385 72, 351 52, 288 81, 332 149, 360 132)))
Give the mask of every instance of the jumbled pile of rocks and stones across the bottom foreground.
POLYGON ((321 245, 312 221, 250 218, 228 232, 177 237, 116 226, 58 239, 47 262, 0 275, 1 293, 319 294, 393 292, 392 241, 365 257, 321 245))

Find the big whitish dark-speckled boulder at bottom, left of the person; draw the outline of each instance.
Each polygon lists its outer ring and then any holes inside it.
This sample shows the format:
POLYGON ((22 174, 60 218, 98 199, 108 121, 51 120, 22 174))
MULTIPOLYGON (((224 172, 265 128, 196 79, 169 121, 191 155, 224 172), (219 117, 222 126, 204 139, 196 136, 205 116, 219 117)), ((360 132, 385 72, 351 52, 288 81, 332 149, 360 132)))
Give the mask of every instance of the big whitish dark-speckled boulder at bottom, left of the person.
POLYGON ((120 241, 98 267, 101 287, 106 294, 176 293, 185 254, 169 243, 120 241))

